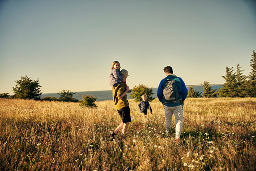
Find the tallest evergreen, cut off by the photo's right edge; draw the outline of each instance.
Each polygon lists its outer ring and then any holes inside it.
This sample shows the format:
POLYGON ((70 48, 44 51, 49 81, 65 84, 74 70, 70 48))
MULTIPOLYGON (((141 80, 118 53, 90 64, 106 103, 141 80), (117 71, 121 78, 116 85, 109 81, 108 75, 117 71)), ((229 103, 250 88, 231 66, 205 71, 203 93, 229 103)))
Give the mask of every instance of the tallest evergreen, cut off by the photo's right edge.
POLYGON ((246 96, 256 97, 256 52, 253 50, 252 59, 250 60, 251 71, 248 75, 248 82, 246 84, 246 96))

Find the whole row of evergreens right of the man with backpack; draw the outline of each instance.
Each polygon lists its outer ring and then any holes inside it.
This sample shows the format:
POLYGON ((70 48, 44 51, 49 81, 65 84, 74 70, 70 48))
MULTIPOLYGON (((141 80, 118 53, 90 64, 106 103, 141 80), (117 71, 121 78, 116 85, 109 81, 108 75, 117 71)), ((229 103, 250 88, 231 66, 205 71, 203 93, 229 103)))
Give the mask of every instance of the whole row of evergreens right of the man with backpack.
POLYGON ((234 67, 226 67, 226 75, 222 76, 225 83, 218 91, 213 90, 208 81, 204 81, 204 92, 199 93, 194 90, 194 87, 189 87, 188 98, 211 98, 211 97, 230 97, 230 98, 244 98, 256 97, 256 52, 252 51, 249 66, 251 71, 249 75, 243 74, 244 69, 239 63, 234 67), (234 70, 235 69, 235 70, 234 70))

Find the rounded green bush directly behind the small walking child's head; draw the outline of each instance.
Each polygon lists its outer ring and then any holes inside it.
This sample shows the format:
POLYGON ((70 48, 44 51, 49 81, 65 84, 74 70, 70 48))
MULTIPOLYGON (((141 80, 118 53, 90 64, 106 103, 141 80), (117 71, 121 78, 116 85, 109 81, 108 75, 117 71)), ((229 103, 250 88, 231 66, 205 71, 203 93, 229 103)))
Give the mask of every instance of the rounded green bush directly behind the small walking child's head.
POLYGON ((135 85, 135 87, 132 88, 132 93, 130 94, 130 97, 134 99, 135 102, 140 102, 142 101, 141 96, 146 94, 147 95, 147 101, 151 102, 154 100, 152 97, 153 90, 152 88, 148 88, 146 85, 139 84, 138 86, 135 85))

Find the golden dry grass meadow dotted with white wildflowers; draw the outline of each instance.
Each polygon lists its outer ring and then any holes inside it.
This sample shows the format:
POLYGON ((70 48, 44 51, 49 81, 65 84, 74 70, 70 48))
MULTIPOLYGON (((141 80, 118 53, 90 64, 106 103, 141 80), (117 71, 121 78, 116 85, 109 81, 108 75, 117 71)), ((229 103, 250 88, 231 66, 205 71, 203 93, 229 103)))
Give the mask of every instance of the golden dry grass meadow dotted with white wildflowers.
POLYGON ((127 141, 112 101, 0 99, 0 170, 255 170, 256 99, 197 98, 184 106, 181 141, 165 134, 162 105, 145 119, 129 100, 127 141))

